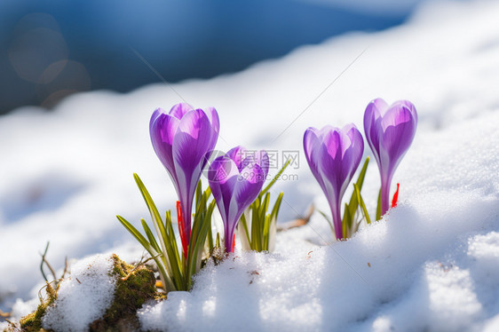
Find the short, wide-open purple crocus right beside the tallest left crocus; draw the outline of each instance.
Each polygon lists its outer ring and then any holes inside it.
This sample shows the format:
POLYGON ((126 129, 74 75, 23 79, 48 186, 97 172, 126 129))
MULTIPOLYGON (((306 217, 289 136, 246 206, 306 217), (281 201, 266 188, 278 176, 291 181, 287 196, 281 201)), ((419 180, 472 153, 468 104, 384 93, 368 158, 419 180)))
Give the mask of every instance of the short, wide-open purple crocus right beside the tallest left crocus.
POLYGON ((224 221, 227 252, 234 251, 234 230, 242 212, 255 201, 268 172, 268 155, 261 151, 245 156, 237 146, 211 162, 208 170, 211 193, 224 221))

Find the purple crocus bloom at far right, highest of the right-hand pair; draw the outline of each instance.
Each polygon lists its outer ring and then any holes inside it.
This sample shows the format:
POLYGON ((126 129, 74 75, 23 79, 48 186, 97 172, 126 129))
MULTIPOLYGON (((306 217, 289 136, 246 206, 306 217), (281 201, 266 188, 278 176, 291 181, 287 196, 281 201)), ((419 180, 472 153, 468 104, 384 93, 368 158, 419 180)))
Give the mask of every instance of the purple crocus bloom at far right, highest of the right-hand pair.
POLYGON ((393 173, 412 143, 416 125, 416 107, 408 100, 388 106, 383 99, 374 99, 366 107, 364 131, 381 175, 382 215, 390 207, 393 173))

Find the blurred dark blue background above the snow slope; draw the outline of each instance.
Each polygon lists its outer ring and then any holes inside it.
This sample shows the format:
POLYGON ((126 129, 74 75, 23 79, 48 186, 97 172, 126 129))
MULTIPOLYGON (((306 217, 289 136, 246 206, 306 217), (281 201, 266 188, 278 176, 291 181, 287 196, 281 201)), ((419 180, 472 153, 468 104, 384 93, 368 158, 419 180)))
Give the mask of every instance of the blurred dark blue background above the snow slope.
POLYGON ((76 91, 236 72, 299 45, 403 22, 416 0, 0 2, 0 114, 76 91))

